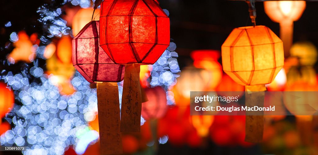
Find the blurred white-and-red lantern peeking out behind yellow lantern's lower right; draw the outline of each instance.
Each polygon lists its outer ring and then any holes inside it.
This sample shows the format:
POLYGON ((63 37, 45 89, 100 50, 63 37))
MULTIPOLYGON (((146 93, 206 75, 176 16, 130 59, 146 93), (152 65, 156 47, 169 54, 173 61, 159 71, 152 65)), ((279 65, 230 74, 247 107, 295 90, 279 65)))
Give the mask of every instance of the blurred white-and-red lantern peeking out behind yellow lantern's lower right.
POLYGON ((266 88, 268 91, 283 91, 285 89, 287 82, 285 69, 282 68, 272 83, 266 84, 266 88))

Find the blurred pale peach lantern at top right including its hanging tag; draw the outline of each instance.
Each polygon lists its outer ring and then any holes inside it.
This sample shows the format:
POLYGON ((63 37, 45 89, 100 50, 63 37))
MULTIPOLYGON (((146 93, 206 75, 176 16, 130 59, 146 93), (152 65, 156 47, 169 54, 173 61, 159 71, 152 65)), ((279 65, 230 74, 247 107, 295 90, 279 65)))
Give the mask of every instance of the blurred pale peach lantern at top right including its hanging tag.
POLYGON ((266 1, 265 13, 272 21, 280 23, 280 39, 284 42, 285 57, 293 44, 294 21, 297 21, 306 8, 306 1, 266 1))

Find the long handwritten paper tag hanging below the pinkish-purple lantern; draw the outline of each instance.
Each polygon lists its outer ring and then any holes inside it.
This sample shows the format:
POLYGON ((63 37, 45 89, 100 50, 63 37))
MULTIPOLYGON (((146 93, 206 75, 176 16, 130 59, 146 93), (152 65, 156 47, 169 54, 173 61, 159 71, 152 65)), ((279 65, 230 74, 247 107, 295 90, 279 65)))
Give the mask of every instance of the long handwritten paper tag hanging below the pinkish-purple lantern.
POLYGON ((122 154, 117 83, 97 83, 97 102, 100 154, 122 154))

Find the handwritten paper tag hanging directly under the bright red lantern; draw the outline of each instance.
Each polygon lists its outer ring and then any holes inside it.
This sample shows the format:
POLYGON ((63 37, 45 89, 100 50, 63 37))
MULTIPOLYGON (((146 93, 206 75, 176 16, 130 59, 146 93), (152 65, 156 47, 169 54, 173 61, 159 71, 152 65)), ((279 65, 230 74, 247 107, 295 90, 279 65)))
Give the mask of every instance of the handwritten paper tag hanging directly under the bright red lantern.
POLYGON ((139 64, 127 64, 125 67, 121 100, 121 132, 140 132, 142 94, 139 72, 139 64))

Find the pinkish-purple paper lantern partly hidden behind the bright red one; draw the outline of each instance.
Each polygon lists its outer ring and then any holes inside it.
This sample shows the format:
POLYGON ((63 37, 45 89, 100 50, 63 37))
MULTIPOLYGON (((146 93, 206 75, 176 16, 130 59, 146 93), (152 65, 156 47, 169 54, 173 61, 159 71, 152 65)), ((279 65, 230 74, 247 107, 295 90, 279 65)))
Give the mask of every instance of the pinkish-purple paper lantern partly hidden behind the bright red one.
POLYGON ((124 65, 117 65, 99 46, 99 21, 91 21, 72 40, 73 66, 90 83, 119 82, 124 65))

